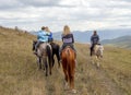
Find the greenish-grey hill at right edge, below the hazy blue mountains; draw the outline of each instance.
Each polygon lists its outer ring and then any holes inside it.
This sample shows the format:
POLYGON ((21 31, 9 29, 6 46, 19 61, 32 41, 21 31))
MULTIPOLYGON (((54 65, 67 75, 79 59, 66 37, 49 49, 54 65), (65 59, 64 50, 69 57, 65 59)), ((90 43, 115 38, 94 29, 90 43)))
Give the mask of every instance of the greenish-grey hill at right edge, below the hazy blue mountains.
POLYGON ((102 40, 104 45, 112 45, 122 48, 131 48, 131 36, 122 36, 115 39, 105 39, 102 40))

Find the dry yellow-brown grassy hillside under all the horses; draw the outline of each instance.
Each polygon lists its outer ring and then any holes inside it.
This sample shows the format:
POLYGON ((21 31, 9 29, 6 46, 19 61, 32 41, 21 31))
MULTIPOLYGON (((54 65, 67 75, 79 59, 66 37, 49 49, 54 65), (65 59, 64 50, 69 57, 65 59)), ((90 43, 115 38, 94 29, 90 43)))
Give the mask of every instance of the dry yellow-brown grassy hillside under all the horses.
MULTIPOLYGON (((0 95, 74 95, 63 90, 62 68, 52 75, 38 70, 32 52, 35 36, 0 28, 0 95)), ((100 68, 88 56, 88 46, 75 44, 75 95, 131 95, 131 50, 105 47, 100 68)))

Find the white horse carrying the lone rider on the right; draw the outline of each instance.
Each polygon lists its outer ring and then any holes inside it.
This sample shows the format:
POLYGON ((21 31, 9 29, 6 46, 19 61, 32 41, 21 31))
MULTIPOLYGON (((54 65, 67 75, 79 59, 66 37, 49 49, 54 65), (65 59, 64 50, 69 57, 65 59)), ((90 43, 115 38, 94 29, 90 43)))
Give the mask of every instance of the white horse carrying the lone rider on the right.
POLYGON ((93 63, 96 63, 97 68, 99 68, 99 60, 103 58, 103 51, 104 47, 102 45, 95 45, 93 48, 93 56, 95 57, 95 60, 93 63))

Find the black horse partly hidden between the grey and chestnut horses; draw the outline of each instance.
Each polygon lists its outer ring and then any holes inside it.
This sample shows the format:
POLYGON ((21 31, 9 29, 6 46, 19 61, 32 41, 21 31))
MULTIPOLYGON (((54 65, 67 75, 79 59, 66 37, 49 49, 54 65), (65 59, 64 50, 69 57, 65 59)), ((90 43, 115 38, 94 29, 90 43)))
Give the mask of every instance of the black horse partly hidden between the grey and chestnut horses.
POLYGON ((52 67, 55 64, 55 58, 53 56, 56 55, 57 57, 57 61, 58 61, 58 68, 60 68, 60 55, 59 55, 59 51, 60 51, 60 46, 56 43, 50 43, 51 45, 51 48, 52 48, 52 67))

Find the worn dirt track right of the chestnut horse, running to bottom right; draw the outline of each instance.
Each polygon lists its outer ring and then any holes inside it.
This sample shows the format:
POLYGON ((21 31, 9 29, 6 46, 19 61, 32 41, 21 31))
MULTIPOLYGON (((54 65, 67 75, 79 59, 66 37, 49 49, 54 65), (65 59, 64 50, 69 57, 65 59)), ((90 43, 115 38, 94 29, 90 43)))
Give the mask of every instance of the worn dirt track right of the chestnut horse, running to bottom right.
POLYGON ((120 87, 112 81, 112 79, 109 78, 108 73, 106 70, 104 70, 104 68, 102 68, 102 66, 98 68, 96 64, 92 63, 91 58, 87 58, 82 54, 80 55, 87 61, 87 67, 95 71, 95 75, 97 75, 97 80, 100 82, 100 85, 107 90, 107 95, 123 95, 122 90, 120 90, 120 87))

